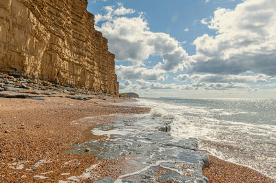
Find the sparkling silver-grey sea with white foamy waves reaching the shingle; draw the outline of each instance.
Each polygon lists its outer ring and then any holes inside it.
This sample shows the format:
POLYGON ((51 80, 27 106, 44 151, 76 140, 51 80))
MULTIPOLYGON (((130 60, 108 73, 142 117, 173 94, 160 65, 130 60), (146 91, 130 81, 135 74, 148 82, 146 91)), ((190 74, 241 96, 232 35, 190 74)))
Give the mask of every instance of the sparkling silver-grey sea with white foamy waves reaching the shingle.
POLYGON ((164 123, 173 138, 194 139, 217 158, 276 180, 276 99, 141 98, 143 118, 164 123))

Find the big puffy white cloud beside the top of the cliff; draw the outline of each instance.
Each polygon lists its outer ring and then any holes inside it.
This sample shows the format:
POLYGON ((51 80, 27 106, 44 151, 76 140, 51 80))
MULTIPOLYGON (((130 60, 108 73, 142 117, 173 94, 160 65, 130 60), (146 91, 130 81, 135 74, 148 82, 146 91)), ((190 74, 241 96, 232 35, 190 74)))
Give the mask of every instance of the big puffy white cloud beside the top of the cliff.
POLYGON ((151 32, 143 14, 131 18, 117 16, 122 13, 116 12, 135 12, 121 4, 118 6, 117 9, 107 6, 105 14, 95 16, 96 23, 103 21, 97 30, 108 39, 109 50, 116 55, 117 61, 132 61, 137 64, 150 56, 161 56, 162 62, 156 68, 170 72, 183 70, 187 53, 179 41, 169 34, 151 32))

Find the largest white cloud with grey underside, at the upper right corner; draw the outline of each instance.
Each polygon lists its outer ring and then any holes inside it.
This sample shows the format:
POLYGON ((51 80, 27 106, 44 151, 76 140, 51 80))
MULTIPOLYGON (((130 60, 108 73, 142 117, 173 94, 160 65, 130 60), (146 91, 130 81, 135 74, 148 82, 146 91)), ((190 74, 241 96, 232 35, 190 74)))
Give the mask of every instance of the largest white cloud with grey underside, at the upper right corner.
POLYGON ((189 72, 276 75, 276 1, 246 0, 229 10, 219 8, 201 23, 217 30, 193 42, 197 54, 188 57, 189 72))

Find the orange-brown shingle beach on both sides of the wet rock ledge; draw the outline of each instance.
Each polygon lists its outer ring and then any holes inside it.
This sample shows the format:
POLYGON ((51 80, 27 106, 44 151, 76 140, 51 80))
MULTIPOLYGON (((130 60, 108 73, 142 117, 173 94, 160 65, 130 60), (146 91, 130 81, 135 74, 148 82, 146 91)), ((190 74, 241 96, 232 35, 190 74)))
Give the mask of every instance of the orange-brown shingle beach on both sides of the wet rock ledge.
MULTIPOLYGON (((0 98, 0 182, 58 182, 82 180, 92 170, 93 177, 118 177, 124 158, 99 160, 92 153, 67 154, 73 144, 88 138, 91 127, 116 120, 109 114, 145 113, 148 109, 106 103, 124 100, 46 98, 46 100, 0 98), (100 104, 96 104, 100 103, 100 104), (81 120, 94 116, 95 120, 81 120)), ((273 182, 261 173, 210 156, 204 170, 210 182, 273 182)), ((92 181, 92 180, 88 180, 92 181)), ((275 181, 274 181, 275 182, 275 181)))

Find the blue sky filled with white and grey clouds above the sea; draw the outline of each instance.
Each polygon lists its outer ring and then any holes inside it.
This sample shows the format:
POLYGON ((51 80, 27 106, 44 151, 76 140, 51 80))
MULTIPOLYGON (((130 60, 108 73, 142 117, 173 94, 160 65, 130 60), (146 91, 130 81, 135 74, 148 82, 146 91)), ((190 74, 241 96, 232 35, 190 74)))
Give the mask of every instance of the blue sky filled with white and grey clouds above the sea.
POLYGON ((88 0, 119 92, 276 98, 275 0, 88 0))

